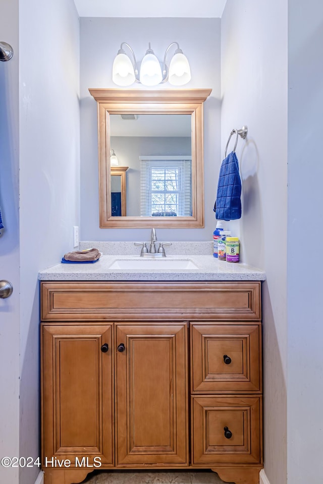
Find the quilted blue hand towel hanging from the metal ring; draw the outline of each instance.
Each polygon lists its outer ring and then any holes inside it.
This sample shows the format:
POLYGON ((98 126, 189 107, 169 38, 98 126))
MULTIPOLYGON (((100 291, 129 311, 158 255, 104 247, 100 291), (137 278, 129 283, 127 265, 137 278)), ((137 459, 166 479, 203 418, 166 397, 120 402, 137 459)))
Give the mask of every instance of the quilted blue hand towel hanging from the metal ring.
POLYGON ((232 151, 221 164, 214 212, 218 220, 241 218, 241 179, 237 155, 232 151))

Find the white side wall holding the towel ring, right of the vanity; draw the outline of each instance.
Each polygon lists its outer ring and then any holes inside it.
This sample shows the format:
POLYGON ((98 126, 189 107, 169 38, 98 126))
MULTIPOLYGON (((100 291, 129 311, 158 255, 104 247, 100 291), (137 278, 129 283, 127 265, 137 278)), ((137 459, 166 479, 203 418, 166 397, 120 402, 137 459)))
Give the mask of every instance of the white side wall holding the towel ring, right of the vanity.
POLYGON ((242 218, 230 227, 240 234, 243 261, 267 278, 264 469, 271 484, 286 484, 287 1, 228 0, 221 42, 222 151, 233 128, 248 126, 237 149, 242 218))

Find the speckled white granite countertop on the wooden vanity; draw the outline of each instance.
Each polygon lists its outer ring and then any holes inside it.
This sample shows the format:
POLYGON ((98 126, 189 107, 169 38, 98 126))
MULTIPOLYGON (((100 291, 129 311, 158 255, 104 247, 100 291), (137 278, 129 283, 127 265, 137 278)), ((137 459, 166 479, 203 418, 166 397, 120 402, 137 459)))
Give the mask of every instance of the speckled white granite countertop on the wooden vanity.
MULTIPOLYGON (((96 245, 97 246, 97 245, 96 245)), ((42 270, 43 281, 263 281, 265 273, 241 263, 219 261, 213 255, 168 255, 165 260, 191 261, 197 269, 163 269, 163 260, 155 260, 156 269, 110 269, 116 261, 142 260, 138 255, 102 255, 94 264, 58 264, 42 270), (160 264, 160 265, 159 265, 160 264), (160 268, 159 268, 160 267, 160 268)), ((151 260, 151 259, 150 259, 151 260)), ((126 263, 127 265, 127 263, 126 263)))

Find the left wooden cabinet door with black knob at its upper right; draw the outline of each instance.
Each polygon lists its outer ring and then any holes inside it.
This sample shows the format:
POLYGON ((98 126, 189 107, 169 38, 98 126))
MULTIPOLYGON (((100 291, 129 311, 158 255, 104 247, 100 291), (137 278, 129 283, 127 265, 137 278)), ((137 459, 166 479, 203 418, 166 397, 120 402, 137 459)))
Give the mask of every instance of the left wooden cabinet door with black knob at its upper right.
POLYGON ((111 325, 42 325, 44 466, 113 465, 112 343, 111 325))

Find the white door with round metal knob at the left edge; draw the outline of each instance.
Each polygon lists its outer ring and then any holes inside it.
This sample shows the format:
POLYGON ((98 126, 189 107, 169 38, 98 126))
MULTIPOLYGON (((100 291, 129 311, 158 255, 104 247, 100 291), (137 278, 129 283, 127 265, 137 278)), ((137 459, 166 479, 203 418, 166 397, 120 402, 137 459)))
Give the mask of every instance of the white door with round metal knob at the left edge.
MULTIPOLYGON (((14 292, 0 299, 0 455, 19 453, 19 44, 18 0, 0 0, 0 40, 14 56, 0 62, 0 279, 14 292)), ((0 482, 18 483, 18 469, 0 466, 0 482)))

